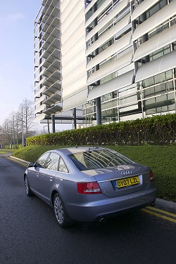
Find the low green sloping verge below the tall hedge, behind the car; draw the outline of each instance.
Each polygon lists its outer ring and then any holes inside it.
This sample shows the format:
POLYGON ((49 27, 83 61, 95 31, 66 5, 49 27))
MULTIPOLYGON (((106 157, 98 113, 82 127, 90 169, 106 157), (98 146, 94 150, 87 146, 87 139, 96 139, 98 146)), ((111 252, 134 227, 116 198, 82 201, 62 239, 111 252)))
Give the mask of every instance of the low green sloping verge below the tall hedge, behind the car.
MULTIPOLYGON (((47 150, 68 146, 27 146, 13 152, 14 157, 36 161, 47 150)), ((150 166, 158 190, 158 198, 176 202, 176 146, 106 146, 124 154, 133 161, 150 166)))

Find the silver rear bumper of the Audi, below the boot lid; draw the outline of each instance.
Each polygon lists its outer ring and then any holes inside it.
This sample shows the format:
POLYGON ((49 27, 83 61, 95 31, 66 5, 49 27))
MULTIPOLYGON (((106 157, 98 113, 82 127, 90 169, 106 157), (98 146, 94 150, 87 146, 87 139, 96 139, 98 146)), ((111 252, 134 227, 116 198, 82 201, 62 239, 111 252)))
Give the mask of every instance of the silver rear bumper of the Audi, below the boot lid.
POLYGON ((92 195, 96 195, 96 202, 87 201, 80 204, 65 204, 66 210, 71 219, 92 222, 94 220, 99 220, 102 217, 111 218, 122 213, 127 213, 128 211, 151 206, 156 200, 156 188, 153 187, 148 190, 134 192, 120 197, 106 197, 103 194, 92 195))

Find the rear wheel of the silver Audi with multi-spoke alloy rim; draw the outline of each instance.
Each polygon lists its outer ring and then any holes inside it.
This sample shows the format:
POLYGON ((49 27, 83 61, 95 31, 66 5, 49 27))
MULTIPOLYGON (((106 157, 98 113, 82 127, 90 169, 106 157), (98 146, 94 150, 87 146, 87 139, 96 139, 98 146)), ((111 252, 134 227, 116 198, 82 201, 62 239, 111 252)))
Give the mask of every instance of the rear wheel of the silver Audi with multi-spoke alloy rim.
POLYGON ((70 225, 73 225, 74 221, 68 216, 63 201, 58 193, 54 195, 54 213, 58 221, 58 225, 61 227, 69 227, 70 225))

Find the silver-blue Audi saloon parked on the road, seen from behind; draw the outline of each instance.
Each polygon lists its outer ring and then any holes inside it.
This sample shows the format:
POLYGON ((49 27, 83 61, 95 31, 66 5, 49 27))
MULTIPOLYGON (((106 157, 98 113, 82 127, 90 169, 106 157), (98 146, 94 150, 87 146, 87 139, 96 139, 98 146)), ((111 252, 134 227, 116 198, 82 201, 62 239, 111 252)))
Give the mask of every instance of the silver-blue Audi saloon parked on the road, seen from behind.
POLYGON ((54 208, 58 224, 104 221, 156 200, 153 173, 105 147, 69 147, 42 154, 25 171, 25 191, 54 208))

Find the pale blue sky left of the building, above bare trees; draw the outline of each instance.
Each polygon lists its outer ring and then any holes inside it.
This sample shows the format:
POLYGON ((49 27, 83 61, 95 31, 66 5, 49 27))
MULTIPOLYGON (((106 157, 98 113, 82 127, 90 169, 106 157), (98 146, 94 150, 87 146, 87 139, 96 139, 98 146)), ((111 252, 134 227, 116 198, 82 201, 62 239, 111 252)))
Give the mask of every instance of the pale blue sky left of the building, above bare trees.
POLYGON ((42 0, 0 0, 0 125, 34 100, 34 18, 42 0))

